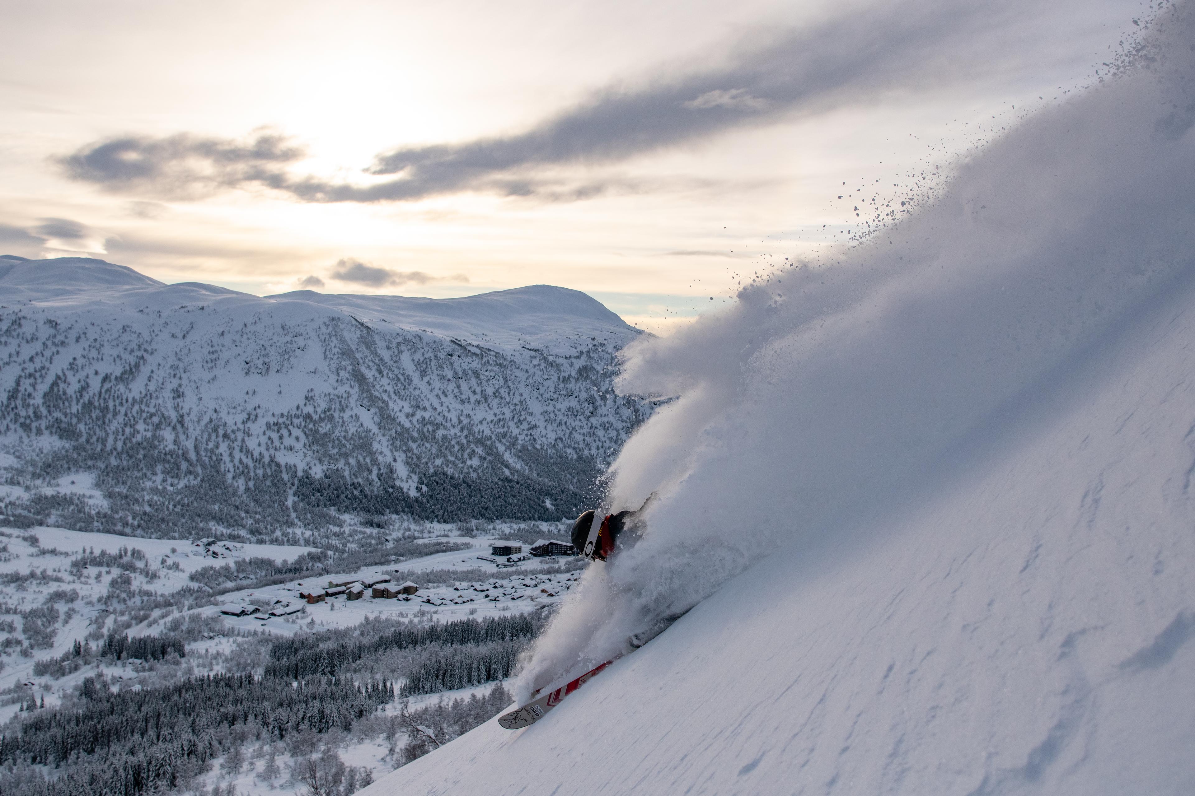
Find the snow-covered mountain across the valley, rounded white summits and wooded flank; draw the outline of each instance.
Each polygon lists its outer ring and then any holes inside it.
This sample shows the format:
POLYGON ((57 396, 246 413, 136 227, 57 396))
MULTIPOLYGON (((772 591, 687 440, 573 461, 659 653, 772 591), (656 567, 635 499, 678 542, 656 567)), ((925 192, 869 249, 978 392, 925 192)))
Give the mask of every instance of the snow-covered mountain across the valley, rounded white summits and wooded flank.
POLYGON ((576 515, 650 414, 612 386, 639 333, 550 286, 259 298, 0 258, 8 514, 252 537, 329 510, 576 515))

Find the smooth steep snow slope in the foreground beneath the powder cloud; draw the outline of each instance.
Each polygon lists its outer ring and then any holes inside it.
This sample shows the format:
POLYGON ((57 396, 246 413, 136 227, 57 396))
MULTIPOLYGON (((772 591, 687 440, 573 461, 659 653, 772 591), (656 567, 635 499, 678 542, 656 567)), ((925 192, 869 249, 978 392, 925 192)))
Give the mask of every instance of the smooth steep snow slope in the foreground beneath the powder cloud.
POLYGON ((942 494, 364 795, 1191 792, 1193 287, 926 473, 942 494))

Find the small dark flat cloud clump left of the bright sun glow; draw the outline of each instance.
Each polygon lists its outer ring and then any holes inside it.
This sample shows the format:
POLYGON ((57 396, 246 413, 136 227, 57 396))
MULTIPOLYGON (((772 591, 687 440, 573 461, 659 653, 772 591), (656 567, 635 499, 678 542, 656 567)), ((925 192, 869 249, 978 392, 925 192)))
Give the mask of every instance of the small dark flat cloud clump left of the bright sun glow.
POLYGON ((286 136, 259 131, 246 141, 128 135, 90 143, 57 161, 67 176, 109 190, 197 198, 250 183, 284 189, 284 166, 305 155, 286 136))

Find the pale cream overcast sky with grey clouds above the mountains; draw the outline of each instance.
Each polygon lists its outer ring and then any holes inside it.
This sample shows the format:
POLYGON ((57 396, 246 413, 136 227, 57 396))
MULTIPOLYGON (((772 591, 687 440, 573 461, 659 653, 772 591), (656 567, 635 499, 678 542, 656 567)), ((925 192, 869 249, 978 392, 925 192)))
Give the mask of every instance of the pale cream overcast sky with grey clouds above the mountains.
POLYGON ((1089 82, 1144 11, 0 0, 0 253, 257 294, 562 284, 660 327, 1089 82))

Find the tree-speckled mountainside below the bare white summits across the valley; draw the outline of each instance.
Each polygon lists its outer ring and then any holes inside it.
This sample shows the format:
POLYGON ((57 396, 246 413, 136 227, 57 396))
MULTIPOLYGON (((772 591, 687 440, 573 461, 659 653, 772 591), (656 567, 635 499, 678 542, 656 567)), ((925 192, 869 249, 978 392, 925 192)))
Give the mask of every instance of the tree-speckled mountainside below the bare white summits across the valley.
POLYGON ((6 523, 235 528, 264 541, 335 525, 337 512, 559 520, 593 504, 606 464, 652 409, 615 393, 617 347, 605 341, 558 356, 348 319, 251 329, 194 307, 124 324, 87 323, 87 312, 0 311, 0 433, 31 442, 17 477, 35 492, 8 502, 6 523), (203 324, 192 356, 164 356, 158 345, 190 323, 203 324), (257 397, 308 345, 326 382, 295 403, 257 397), (244 399, 206 402, 210 374, 240 362, 244 399), (80 469, 104 502, 36 489, 80 469))

